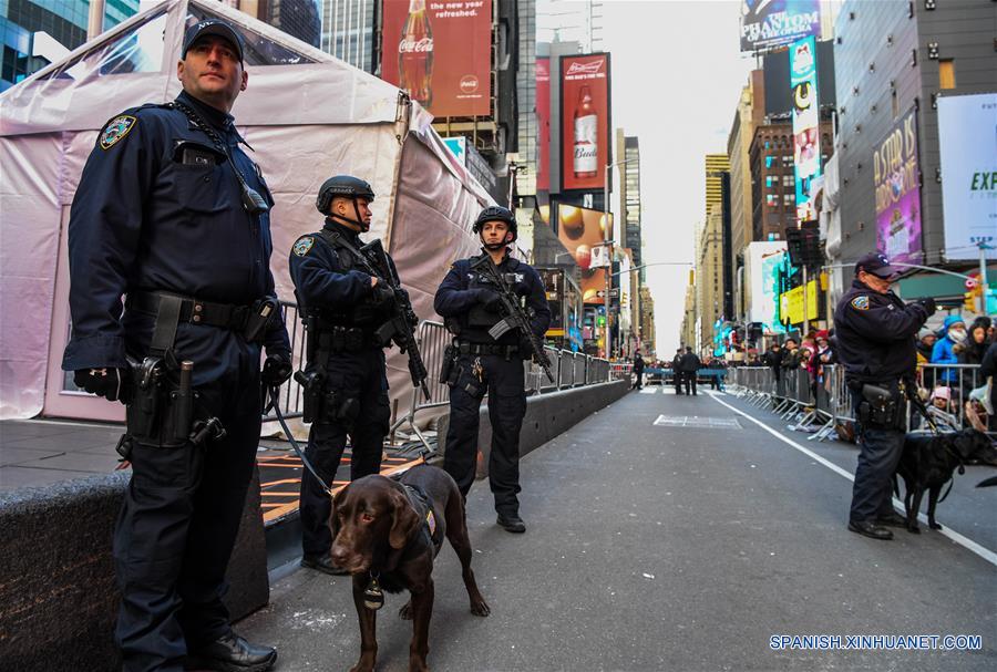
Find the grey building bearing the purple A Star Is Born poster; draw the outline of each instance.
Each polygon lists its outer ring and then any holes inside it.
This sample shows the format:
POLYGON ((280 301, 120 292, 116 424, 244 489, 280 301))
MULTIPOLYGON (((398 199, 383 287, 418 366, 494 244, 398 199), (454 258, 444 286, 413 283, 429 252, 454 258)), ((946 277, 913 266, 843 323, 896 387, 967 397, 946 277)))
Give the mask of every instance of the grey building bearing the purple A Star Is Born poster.
MULTIPOLYGON (((854 261, 873 249, 933 267, 969 268, 978 259, 968 240, 946 246, 948 227, 959 223, 946 223, 943 216, 946 175, 941 163, 937 107, 944 97, 997 92, 995 10, 994 2, 974 0, 849 0, 842 6, 834 44, 840 262, 854 261), (894 230, 890 221, 893 208, 877 208, 876 201, 877 182, 883 182, 884 172, 892 174, 894 166, 884 170, 880 164, 877 180, 876 159, 885 156, 884 143, 911 114, 916 151, 913 164, 905 163, 904 170, 914 199, 903 214, 906 225, 894 230)), ((833 277, 832 286, 840 291, 847 286, 851 271, 844 269, 833 277)), ((962 302, 965 287, 959 278, 928 273, 902 281, 901 290, 904 296, 962 302)))

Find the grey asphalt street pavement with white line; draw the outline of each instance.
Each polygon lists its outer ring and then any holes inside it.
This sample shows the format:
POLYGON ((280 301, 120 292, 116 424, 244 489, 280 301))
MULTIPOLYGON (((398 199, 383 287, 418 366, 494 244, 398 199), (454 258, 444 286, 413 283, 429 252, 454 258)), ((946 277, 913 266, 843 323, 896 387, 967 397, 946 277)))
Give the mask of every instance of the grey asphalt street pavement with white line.
MULTIPOLYGON (((808 442, 730 395, 630 393, 523 459, 525 535, 496 527, 487 485, 472 488, 473 567, 492 614, 470 613, 444 546, 429 664, 997 669, 997 488, 973 488, 997 469, 969 467, 938 508, 939 523, 978 545, 974 552, 927 529, 896 530, 890 542, 847 531, 852 484, 842 473, 854 472, 856 454, 808 442), (773 650, 782 634, 840 635, 842 644, 847 635, 970 634, 981 649, 773 650)), ((276 644, 278 670, 349 669, 360 648, 349 578, 280 573, 270 606, 238 630, 276 644)), ((411 623, 397 617, 405 599, 388 596, 379 614, 381 672, 408 669, 411 623)))

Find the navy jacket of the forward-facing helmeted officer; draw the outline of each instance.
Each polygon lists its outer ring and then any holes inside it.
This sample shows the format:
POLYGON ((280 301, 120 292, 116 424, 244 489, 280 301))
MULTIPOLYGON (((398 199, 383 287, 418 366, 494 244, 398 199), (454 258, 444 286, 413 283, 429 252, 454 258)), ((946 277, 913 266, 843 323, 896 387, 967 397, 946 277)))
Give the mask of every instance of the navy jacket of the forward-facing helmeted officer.
MULTIPOLYGON (((471 270, 471 263, 477 257, 455 261, 440 283, 433 300, 433 308, 442 317, 465 320, 471 309, 479 303, 482 292, 491 291, 481 283, 479 273, 471 270)), ((547 296, 544 292, 544 283, 539 273, 528 263, 523 263, 507 255, 498 265, 498 270, 502 273, 514 276, 515 281, 510 285, 517 296, 526 298, 526 308, 533 311, 530 325, 533 333, 543 340, 547 327, 551 324, 551 308, 547 306, 547 296)), ((487 330, 469 329, 464 322, 460 338, 475 343, 497 342, 514 345, 517 344, 520 335, 510 330, 495 341, 489 335, 487 330)))

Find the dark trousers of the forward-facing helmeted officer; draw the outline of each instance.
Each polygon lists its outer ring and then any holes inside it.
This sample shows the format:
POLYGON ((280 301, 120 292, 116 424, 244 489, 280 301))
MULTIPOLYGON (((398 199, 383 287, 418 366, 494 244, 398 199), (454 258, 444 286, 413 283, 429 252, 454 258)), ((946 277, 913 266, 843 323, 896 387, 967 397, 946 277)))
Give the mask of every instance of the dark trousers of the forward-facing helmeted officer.
POLYGON ((487 392, 492 425, 489 484, 495 497, 495 510, 503 515, 518 514, 520 430, 526 415, 523 360, 516 355, 506 360, 498 354, 462 354, 454 366, 458 375, 450 386, 450 426, 443 468, 466 498, 477 466, 481 400, 487 392), (480 364, 480 378, 475 361, 480 364))

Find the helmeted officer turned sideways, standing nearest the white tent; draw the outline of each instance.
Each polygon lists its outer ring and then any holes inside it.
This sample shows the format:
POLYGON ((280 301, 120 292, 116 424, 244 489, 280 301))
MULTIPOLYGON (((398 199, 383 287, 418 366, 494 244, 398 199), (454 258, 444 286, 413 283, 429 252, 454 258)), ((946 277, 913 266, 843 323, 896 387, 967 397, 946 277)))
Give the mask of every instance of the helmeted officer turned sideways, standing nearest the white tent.
MULTIPOLYGON (((306 421, 311 422, 305 456, 326 485, 342 458, 347 434, 352 446, 351 479, 381 468, 391 411, 384 347, 374 332, 390 318, 393 291, 370 275, 358 259, 370 229, 374 194, 349 175, 327 179, 316 208, 326 216, 322 229, 301 236, 290 252, 290 275, 305 308, 308 362, 304 371, 306 421)), ((390 262, 390 259, 389 259, 390 262)), ((393 270, 393 266, 392 266, 393 270)), ((329 556, 332 500, 310 474, 301 478, 301 566, 346 573, 329 556)))

